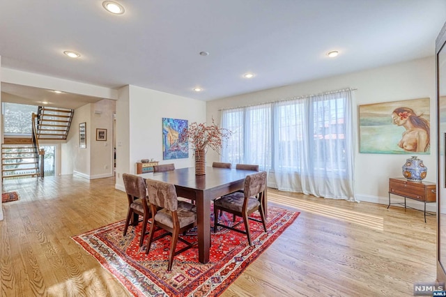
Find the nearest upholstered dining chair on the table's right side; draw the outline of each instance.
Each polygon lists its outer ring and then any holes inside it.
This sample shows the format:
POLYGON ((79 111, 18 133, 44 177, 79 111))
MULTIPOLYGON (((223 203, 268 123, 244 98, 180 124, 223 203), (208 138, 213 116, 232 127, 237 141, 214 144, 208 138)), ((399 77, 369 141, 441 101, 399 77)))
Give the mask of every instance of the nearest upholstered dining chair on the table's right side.
POLYGON ((249 230, 249 220, 261 222, 266 232, 266 218, 263 211, 263 198, 266 189, 266 172, 249 174, 245 178, 243 192, 233 192, 214 201, 214 232, 217 227, 224 227, 247 235, 249 245, 252 245, 251 232, 249 230), (226 211, 233 215, 242 217, 243 220, 233 226, 218 223, 218 211, 226 211), (261 220, 249 217, 254 211, 259 211, 261 220), (241 224, 245 224, 245 231, 236 229, 241 224))

